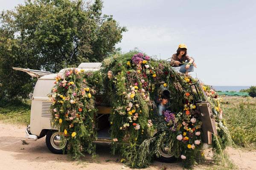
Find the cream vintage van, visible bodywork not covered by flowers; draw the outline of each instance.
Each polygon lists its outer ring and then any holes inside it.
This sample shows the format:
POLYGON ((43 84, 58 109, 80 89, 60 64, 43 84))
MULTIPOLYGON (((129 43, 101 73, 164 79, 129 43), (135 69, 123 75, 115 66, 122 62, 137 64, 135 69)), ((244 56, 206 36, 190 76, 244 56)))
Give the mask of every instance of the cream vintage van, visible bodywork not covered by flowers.
MULTIPOLYGON (((85 71, 97 71, 101 68, 102 63, 81 63, 77 70, 85 71)), ((49 111, 52 102, 49 102, 48 94, 55 82, 55 77, 57 74, 52 74, 47 71, 37 71, 31 69, 23 68, 13 68, 15 70, 20 70, 28 73, 32 77, 37 77, 35 89, 32 95, 32 105, 31 105, 31 115, 30 115, 30 125, 26 127, 26 139, 36 141, 44 136, 46 136, 46 144, 52 153, 61 154, 63 153, 62 148, 64 145, 60 145, 61 137, 59 135, 59 129, 53 128, 51 126, 52 113, 49 111)), ((64 73, 66 69, 62 69, 59 73, 64 73)), ((194 102, 196 106, 200 108, 201 120, 203 122, 202 130, 204 132, 204 142, 211 144, 212 134, 217 135, 217 130, 215 126, 215 120, 212 114, 211 105, 207 99, 206 94, 199 81, 190 85, 194 102)), ((96 96, 96 100, 102 99, 102 95, 96 96)), ((110 107, 104 105, 96 106, 98 108, 97 117, 95 117, 96 123, 98 123, 98 136, 95 142, 110 143, 111 137, 108 133, 109 122, 108 115, 110 113, 110 107)), ((154 105, 154 112, 158 114, 157 107, 154 105)), ((161 157, 169 159, 173 155, 168 154, 168 148, 160 150, 161 157)))

